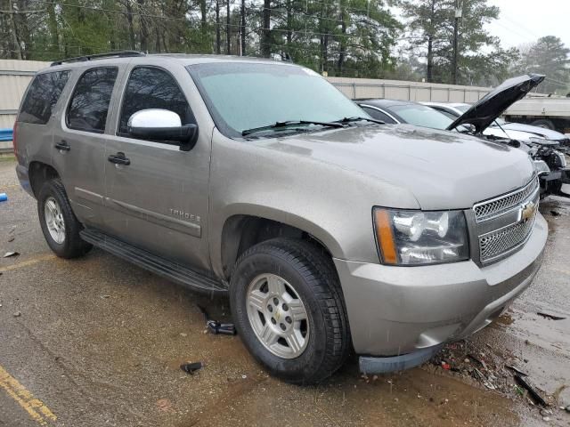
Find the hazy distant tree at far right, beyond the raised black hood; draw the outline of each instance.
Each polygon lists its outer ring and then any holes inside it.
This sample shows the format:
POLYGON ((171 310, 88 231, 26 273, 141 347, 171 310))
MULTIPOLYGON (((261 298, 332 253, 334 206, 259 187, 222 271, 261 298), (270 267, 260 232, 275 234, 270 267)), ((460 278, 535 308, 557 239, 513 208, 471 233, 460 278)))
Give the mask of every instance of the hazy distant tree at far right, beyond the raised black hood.
POLYGON ((556 36, 544 36, 534 44, 519 47, 520 60, 514 67, 518 74, 544 74, 539 91, 566 94, 570 84, 570 49, 556 36))

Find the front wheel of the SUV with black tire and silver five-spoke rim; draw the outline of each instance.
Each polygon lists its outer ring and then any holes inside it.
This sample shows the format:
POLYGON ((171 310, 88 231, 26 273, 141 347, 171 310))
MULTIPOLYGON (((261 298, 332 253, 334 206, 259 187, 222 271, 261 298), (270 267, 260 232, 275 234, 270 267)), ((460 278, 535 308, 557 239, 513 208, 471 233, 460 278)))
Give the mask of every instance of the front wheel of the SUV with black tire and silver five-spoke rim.
POLYGON ((288 383, 322 382, 352 348, 337 271, 323 252, 302 240, 275 238, 249 248, 232 271, 230 306, 241 340, 272 375, 288 383), (255 308, 248 299, 254 291, 255 308), (264 334, 273 342, 269 347, 260 338, 264 334))

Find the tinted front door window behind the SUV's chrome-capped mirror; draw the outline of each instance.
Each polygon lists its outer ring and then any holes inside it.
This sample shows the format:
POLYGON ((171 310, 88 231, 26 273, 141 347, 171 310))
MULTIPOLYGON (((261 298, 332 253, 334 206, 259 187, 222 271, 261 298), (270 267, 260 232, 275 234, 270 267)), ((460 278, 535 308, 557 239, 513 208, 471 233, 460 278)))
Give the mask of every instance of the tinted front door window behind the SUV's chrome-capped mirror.
POLYGON ((154 67, 134 68, 126 84, 118 133, 128 136, 128 119, 141 109, 169 109, 183 125, 195 123, 182 90, 167 71, 154 67))

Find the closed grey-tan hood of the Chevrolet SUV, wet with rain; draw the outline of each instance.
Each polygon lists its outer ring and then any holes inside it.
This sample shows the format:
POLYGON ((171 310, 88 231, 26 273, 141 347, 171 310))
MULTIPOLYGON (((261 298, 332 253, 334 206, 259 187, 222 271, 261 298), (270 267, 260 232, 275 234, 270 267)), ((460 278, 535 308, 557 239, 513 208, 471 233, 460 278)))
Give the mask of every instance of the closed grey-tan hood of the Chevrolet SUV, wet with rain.
MULTIPOLYGON (((259 143, 296 155, 299 167, 318 161, 408 190, 426 210, 469 208, 533 176, 520 149, 412 125, 355 126, 259 143)), ((377 203, 383 203, 381 193, 377 203)))

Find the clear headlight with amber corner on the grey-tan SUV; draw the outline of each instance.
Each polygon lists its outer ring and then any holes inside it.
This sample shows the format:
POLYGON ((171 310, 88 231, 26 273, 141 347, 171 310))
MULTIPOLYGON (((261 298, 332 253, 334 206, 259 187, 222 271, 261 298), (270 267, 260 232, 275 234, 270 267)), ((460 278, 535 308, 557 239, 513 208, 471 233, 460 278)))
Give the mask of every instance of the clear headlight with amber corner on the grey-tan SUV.
POLYGON ((422 212, 374 208, 380 260, 418 265, 469 258, 467 225, 462 211, 422 212))

